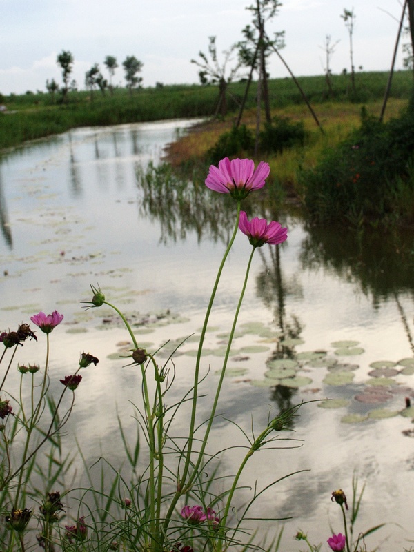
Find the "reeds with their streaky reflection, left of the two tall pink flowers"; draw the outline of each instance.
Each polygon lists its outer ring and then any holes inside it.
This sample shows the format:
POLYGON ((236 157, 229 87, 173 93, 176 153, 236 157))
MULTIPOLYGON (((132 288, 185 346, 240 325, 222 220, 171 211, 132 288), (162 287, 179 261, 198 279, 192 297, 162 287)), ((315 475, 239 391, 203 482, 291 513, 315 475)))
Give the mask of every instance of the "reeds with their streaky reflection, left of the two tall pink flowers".
POLYGON ((137 181, 141 214, 159 222, 162 243, 184 240, 193 231, 199 242, 209 237, 228 243, 235 224, 235 201, 228 195, 211 193, 204 181, 197 185, 199 179, 177 176, 168 164, 138 167, 137 181))

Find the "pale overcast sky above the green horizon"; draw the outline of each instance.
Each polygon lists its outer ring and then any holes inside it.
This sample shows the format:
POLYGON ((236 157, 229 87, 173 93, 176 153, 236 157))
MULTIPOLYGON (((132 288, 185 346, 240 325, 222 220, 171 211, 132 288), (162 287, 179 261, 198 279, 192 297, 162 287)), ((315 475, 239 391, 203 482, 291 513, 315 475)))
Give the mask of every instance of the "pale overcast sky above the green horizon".
MULTIPOLYGON (((122 61, 134 55, 144 63, 143 86, 197 83, 190 59, 207 51, 208 37, 217 50, 242 38, 250 22, 246 10, 253 0, 0 0, 0 92, 46 91, 46 79, 61 83, 56 58, 70 50, 72 77, 84 88, 85 72, 107 55, 117 58, 114 83, 124 85, 122 61)), ((397 37, 402 5, 399 0, 284 0, 268 34, 285 31, 282 55, 295 75, 320 75, 324 70, 327 34, 339 41, 331 69, 349 69, 348 31, 340 15, 353 8, 355 68, 388 70, 397 37)), ((402 38, 402 43, 408 41, 402 38)), ((402 68, 400 43, 396 68, 402 68)), ((276 55, 270 57, 270 77, 288 72, 276 55)))

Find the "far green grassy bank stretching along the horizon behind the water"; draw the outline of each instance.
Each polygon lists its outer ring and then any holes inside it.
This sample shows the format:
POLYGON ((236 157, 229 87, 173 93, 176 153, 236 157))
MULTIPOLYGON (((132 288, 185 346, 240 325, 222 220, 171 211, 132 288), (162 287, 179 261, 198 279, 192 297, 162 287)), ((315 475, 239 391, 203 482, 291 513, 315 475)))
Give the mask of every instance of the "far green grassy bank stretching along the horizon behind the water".
MULTIPOLYGON (((357 75, 355 105, 380 101, 384 95, 388 75, 384 72, 366 72, 357 75)), ((334 96, 328 97, 323 76, 300 77, 308 99, 323 104, 320 116, 329 106, 338 106, 348 98, 348 75, 333 75, 334 96), (328 102, 328 103, 326 103, 328 102)), ((391 98, 404 100, 412 86, 411 72, 394 75, 391 98)), ((237 112, 244 95, 245 83, 229 86, 228 111, 237 112)), ((297 106, 302 112, 303 100, 292 79, 269 81, 270 101, 273 110, 297 106)), ((257 83, 253 83, 247 97, 246 108, 255 106, 257 83)), ((66 132, 80 126, 106 126, 140 121, 156 121, 184 117, 210 116, 215 111, 217 86, 175 85, 142 88, 130 95, 126 89, 117 89, 113 96, 95 91, 70 92, 67 105, 59 104, 60 97, 49 94, 32 94, 3 97, 8 115, 0 115, 0 149, 17 146, 25 141, 66 132)), ((339 108, 340 109, 340 108, 339 108)), ((306 111, 306 110, 305 110, 306 111)), ((329 123, 328 123, 329 124, 329 123)))

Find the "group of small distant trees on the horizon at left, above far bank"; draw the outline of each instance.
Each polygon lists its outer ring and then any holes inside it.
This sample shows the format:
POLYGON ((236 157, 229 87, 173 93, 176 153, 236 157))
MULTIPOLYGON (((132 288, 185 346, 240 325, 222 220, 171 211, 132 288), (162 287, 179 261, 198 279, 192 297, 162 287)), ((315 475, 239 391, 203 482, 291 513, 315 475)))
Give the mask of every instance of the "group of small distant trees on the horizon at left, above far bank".
MULTIPOLYGON (((70 81, 70 75, 73 70, 74 57, 72 52, 68 50, 62 50, 61 53, 57 56, 57 65, 61 68, 62 71, 62 84, 59 87, 59 84, 55 79, 46 81, 46 90, 50 93, 55 101, 55 95, 57 92, 61 92, 61 101, 66 103, 68 101, 68 92, 70 90, 77 90, 77 82, 75 80, 70 81)), ((118 67, 117 58, 114 56, 106 56, 103 64, 108 70, 108 79, 106 79, 99 68, 99 63, 94 63, 92 67, 85 73, 85 86, 90 91, 90 99, 92 101, 94 91, 99 89, 103 95, 106 94, 108 90, 110 95, 113 94, 114 85, 112 79, 115 75, 115 69, 118 67)), ((132 94, 132 90, 139 88, 142 83, 142 77, 139 76, 144 63, 139 61, 135 56, 127 56, 126 59, 122 62, 122 66, 125 72, 126 86, 132 94)))

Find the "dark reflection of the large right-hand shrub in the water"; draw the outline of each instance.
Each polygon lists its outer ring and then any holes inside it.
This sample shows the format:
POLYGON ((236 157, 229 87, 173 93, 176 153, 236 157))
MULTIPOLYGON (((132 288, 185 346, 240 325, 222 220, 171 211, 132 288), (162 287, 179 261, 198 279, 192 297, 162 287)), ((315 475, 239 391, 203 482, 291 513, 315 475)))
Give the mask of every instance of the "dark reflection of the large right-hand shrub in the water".
POLYGON ((402 291, 413 292, 414 232, 393 228, 380 234, 366 229, 306 228, 300 260, 303 268, 331 270, 372 293, 373 304, 402 291))

